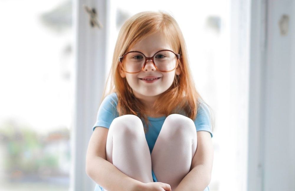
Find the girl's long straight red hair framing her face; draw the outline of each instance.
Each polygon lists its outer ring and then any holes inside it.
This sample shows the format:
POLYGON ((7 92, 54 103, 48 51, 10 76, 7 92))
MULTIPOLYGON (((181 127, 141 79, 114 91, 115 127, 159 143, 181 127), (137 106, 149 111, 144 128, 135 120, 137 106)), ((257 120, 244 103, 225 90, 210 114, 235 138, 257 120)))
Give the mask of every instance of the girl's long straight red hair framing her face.
POLYGON ((194 80, 189 69, 186 44, 176 20, 170 14, 163 11, 144 11, 135 14, 123 24, 119 31, 114 48, 112 67, 107 78, 102 100, 108 94, 116 92, 119 116, 125 114, 137 115, 146 124, 145 132, 148 129, 145 107, 142 101, 133 95, 126 78, 120 76, 118 58, 124 55, 129 47, 132 47, 138 41, 159 31, 171 42, 173 52, 181 54, 178 62, 181 74, 175 75, 171 87, 163 92, 155 101, 153 105, 155 113, 159 112, 168 116, 173 113, 185 112, 187 117, 194 120, 196 118, 199 100, 201 99, 203 101, 195 88, 194 80), (108 89, 108 93, 106 93, 106 89, 108 89))

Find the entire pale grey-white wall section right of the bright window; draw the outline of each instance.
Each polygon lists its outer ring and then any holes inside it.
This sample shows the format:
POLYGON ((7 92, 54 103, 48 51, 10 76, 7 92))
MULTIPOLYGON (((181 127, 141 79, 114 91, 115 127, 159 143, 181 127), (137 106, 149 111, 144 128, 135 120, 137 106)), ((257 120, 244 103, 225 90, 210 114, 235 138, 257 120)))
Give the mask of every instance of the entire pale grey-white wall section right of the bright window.
POLYGON ((252 1, 248 190, 295 190, 294 17, 294 1, 252 1))

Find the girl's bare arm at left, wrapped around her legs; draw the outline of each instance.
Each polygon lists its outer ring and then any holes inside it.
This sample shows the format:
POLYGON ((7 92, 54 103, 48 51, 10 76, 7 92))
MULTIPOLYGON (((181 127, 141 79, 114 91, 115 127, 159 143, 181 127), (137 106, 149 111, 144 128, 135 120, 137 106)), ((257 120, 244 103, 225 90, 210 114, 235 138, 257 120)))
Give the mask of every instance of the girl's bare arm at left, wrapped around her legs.
POLYGON ((106 138, 109 129, 96 127, 86 154, 86 173, 108 191, 140 191, 143 183, 121 172, 106 160, 106 138))

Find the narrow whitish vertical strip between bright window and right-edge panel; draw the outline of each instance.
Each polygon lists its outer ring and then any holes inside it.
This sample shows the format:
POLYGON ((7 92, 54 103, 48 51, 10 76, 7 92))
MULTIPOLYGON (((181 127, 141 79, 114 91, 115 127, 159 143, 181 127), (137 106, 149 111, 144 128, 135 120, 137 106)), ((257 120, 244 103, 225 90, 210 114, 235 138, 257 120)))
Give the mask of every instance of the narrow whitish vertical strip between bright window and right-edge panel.
POLYGON ((262 190, 265 113, 266 0, 251 1, 248 191, 262 190))

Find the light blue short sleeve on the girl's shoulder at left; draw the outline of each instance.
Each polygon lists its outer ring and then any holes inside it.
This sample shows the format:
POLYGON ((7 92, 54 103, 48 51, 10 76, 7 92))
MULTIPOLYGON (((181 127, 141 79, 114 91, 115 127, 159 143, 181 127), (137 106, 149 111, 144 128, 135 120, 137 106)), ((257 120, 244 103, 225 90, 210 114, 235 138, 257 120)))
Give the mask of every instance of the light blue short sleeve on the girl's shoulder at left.
POLYGON ((116 117, 119 117, 117 111, 117 104, 118 97, 116 93, 109 94, 104 98, 104 100, 101 102, 99 106, 96 122, 92 127, 93 131, 95 127, 106 127, 109 129, 112 121, 116 117))

